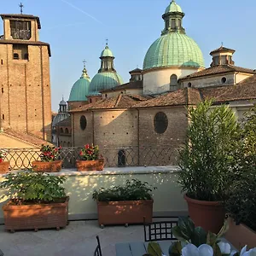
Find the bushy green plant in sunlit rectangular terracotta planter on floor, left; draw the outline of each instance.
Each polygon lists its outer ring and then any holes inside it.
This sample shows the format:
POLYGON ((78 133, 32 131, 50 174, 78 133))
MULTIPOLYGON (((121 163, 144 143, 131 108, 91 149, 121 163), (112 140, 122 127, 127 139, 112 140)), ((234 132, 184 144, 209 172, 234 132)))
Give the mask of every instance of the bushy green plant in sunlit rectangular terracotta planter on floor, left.
POLYGON ((10 200, 3 206, 5 229, 35 230, 67 225, 68 197, 62 184, 66 177, 48 173, 9 173, 0 184, 10 200))

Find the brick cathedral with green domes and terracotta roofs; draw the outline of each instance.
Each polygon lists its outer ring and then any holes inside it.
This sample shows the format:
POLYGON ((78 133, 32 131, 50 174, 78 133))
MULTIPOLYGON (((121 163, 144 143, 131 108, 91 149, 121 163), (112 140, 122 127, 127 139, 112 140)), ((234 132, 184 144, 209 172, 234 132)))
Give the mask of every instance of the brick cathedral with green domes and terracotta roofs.
POLYGON ((135 166, 152 157, 147 148, 168 150, 172 157, 167 162, 177 164, 177 149, 189 124, 188 106, 213 99, 214 105, 229 104, 237 119, 253 107, 255 70, 235 66, 235 50, 223 45, 212 50, 212 63, 206 68, 201 49, 185 33, 183 17, 183 10, 172 0, 162 15, 165 27, 160 38, 149 47, 143 69, 130 72, 129 83, 122 84, 106 46, 87 100, 69 108, 71 117, 62 122, 63 129, 70 126, 72 146, 98 144, 106 158, 115 160, 122 151, 135 166))

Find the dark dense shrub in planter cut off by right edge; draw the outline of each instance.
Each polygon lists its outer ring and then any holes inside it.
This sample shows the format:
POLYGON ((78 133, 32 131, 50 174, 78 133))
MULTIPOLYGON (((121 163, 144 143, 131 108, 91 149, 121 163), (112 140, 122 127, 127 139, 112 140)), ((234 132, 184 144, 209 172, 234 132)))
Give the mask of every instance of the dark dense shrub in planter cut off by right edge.
POLYGON ((236 150, 238 164, 233 167, 236 179, 225 201, 230 213, 226 237, 236 247, 256 246, 256 107, 241 122, 236 150))

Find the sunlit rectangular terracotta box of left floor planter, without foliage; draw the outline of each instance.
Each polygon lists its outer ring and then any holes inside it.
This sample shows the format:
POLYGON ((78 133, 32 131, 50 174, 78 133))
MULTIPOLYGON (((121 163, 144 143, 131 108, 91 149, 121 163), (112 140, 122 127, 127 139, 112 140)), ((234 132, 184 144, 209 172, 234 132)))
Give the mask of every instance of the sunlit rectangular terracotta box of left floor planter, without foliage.
POLYGON ((3 206, 5 230, 35 230, 64 228, 67 225, 68 200, 36 205, 14 205, 12 201, 3 206))

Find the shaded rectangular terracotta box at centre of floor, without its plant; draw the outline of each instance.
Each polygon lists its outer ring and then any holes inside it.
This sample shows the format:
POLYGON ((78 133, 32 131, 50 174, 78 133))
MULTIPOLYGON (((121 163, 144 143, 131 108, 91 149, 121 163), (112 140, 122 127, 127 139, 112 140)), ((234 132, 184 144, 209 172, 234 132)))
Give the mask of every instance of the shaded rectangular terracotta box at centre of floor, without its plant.
POLYGON ((141 224, 152 222, 153 200, 97 201, 99 224, 141 224))

